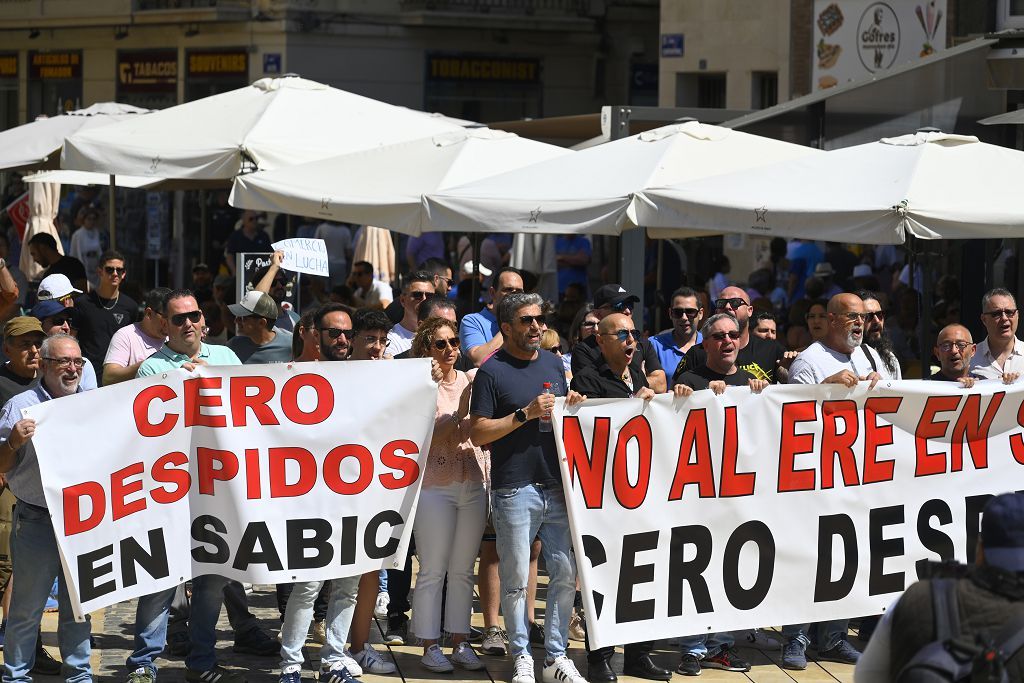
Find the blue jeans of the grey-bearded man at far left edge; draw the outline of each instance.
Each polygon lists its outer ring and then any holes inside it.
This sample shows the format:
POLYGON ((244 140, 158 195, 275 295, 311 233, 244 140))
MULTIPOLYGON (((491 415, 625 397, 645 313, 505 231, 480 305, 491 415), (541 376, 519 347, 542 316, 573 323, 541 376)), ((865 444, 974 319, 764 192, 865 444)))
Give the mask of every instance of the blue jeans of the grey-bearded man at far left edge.
POLYGON ((29 672, 36 664, 36 636, 46 598, 57 577, 60 578, 57 588, 57 642, 63 659, 61 676, 70 683, 91 681, 89 635, 92 622, 88 614, 84 622, 75 621, 50 514, 46 508, 19 501, 14 506, 12 523, 11 559, 17 590, 11 593, 10 611, 7 612, 3 681, 32 680, 29 672))

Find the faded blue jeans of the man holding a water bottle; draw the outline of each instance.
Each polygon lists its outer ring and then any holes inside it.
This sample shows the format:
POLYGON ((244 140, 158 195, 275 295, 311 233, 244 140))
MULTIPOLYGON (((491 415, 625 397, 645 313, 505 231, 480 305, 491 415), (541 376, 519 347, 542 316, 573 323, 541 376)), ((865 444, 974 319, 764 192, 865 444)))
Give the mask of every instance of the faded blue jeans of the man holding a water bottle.
POLYGON ((562 489, 540 484, 496 488, 490 501, 509 651, 513 657, 529 654, 529 625, 526 623, 529 546, 540 537, 549 575, 545 649, 549 659, 561 656, 565 654, 575 596, 575 556, 562 489))

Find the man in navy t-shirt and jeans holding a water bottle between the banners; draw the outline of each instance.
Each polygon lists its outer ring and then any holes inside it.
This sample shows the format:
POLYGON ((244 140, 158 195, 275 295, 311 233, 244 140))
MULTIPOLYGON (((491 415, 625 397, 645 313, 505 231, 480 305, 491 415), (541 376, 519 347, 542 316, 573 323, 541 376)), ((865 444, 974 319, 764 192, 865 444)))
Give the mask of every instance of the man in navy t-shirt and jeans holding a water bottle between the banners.
POLYGON ((551 419, 555 396, 566 396, 569 404, 585 397, 567 390, 561 359, 541 349, 543 303, 539 295, 522 292, 502 299, 497 311, 502 347, 480 366, 473 382, 472 439, 476 445, 490 445, 492 519, 502 549, 498 571, 514 659, 512 681, 535 681, 526 585, 529 547, 540 537, 550 575, 544 678, 585 683, 565 656, 575 559, 554 432, 550 424, 548 429, 541 426, 551 419))

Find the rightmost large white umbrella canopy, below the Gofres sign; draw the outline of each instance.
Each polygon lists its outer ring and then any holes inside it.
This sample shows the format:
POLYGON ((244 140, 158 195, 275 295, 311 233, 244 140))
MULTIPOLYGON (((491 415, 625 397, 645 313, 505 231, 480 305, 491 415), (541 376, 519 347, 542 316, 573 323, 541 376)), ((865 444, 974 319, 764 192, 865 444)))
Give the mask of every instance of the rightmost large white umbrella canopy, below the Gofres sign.
POLYGON ((637 218, 654 237, 679 227, 859 244, 1016 237, 1021 177, 1022 152, 915 133, 650 189, 637 218))

